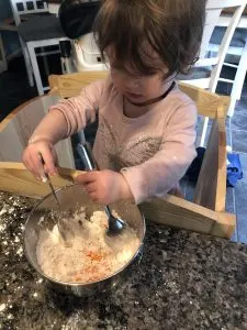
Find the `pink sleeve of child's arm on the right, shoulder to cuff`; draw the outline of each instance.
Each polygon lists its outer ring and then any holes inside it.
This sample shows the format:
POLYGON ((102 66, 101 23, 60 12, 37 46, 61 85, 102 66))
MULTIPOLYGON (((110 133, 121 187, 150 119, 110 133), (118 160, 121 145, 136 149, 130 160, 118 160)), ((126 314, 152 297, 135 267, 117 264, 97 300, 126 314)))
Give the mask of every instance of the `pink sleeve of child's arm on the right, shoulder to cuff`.
POLYGON ((195 156, 195 122, 194 105, 180 107, 166 128, 160 150, 145 163, 121 170, 136 204, 165 197, 179 183, 195 156))

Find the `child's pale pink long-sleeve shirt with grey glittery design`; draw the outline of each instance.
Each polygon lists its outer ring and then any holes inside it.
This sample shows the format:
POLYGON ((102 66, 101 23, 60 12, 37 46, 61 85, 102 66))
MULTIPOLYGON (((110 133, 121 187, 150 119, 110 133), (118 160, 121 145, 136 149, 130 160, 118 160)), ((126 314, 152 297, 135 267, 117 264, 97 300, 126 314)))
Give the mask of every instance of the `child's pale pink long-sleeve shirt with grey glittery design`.
POLYGON ((178 86, 137 118, 123 111, 123 96, 110 78, 96 81, 80 96, 50 108, 63 112, 67 136, 99 113, 93 154, 101 169, 121 172, 139 204, 162 198, 184 175, 195 156, 197 108, 178 86))

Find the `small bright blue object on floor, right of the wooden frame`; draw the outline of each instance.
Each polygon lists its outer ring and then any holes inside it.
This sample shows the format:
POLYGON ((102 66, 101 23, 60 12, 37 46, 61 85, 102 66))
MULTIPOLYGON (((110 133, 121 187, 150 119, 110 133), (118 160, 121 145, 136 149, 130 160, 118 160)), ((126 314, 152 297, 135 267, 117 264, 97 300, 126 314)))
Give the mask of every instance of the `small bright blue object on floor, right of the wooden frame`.
POLYGON ((242 163, 238 154, 227 154, 227 187, 235 187, 243 178, 242 163))

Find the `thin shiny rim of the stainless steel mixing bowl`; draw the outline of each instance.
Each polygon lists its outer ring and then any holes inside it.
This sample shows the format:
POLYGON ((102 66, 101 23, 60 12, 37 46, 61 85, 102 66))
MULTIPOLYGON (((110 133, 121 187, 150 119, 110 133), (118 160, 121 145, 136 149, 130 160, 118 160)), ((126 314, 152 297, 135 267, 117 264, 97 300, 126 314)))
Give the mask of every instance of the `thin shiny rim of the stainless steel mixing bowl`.
MULTIPOLYGON (((60 190, 64 190, 68 187, 71 187, 71 186, 79 186, 78 184, 75 184, 75 185, 68 185, 68 186, 65 186, 65 187, 61 187, 61 188, 58 188, 55 190, 55 193, 58 193, 60 190)), ((136 250, 135 254, 133 255, 133 257, 123 266, 121 267, 119 271, 116 271, 115 273, 112 273, 111 275, 106 276, 106 277, 103 277, 101 278, 100 280, 94 280, 94 282, 87 282, 87 283, 80 283, 80 282, 60 282, 60 280, 57 280, 53 277, 49 277, 48 275, 46 275, 42 270, 38 270, 36 267, 36 265, 31 261, 31 258, 29 257, 29 253, 27 253, 27 250, 26 250, 26 245, 25 245, 25 229, 26 229, 26 224, 27 222, 30 221, 30 218, 32 217, 33 212, 36 210, 36 208, 48 197, 53 196, 53 193, 50 194, 47 194, 46 196, 44 196, 41 200, 38 200, 35 206, 33 207, 32 211, 30 212, 26 221, 25 221, 25 228, 24 228, 24 237, 23 237, 23 241, 24 241, 24 252, 25 252, 25 256, 26 258, 29 260, 30 264, 34 267, 34 270, 41 274, 44 278, 55 283, 55 284, 59 284, 59 285, 68 285, 68 286, 88 286, 88 285, 93 285, 93 284, 99 284, 99 283, 102 283, 109 278, 112 278, 114 277, 115 275, 120 274, 121 272, 123 272, 134 260, 135 257, 138 255, 139 251, 141 251, 141 248, 143 245, 143 241, 144 241, 144 238, 145 238, 145 234, 146 234, 146 222, 145 222, 145 218, 143 216, 143 212, 139 210, 141 212, 141 216, 142 216, 142 219, 143 219, 143 238, 141 238, 141 244, 138 246, 138 249, 136 250)))

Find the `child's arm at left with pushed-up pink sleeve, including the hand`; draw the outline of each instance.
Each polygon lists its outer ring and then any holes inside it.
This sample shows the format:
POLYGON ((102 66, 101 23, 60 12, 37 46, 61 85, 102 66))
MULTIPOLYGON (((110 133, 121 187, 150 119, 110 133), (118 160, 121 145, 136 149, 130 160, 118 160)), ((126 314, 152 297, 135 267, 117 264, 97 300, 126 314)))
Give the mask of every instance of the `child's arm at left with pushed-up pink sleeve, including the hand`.
POLYGON ((105 80, 93 82, 80 96, 61 100, 49 109, 22 156, 24 165, 36 178, 44 176, 44 169, 50 175, 56 174, 54 144, 94 121, 104 85, 105 80))

